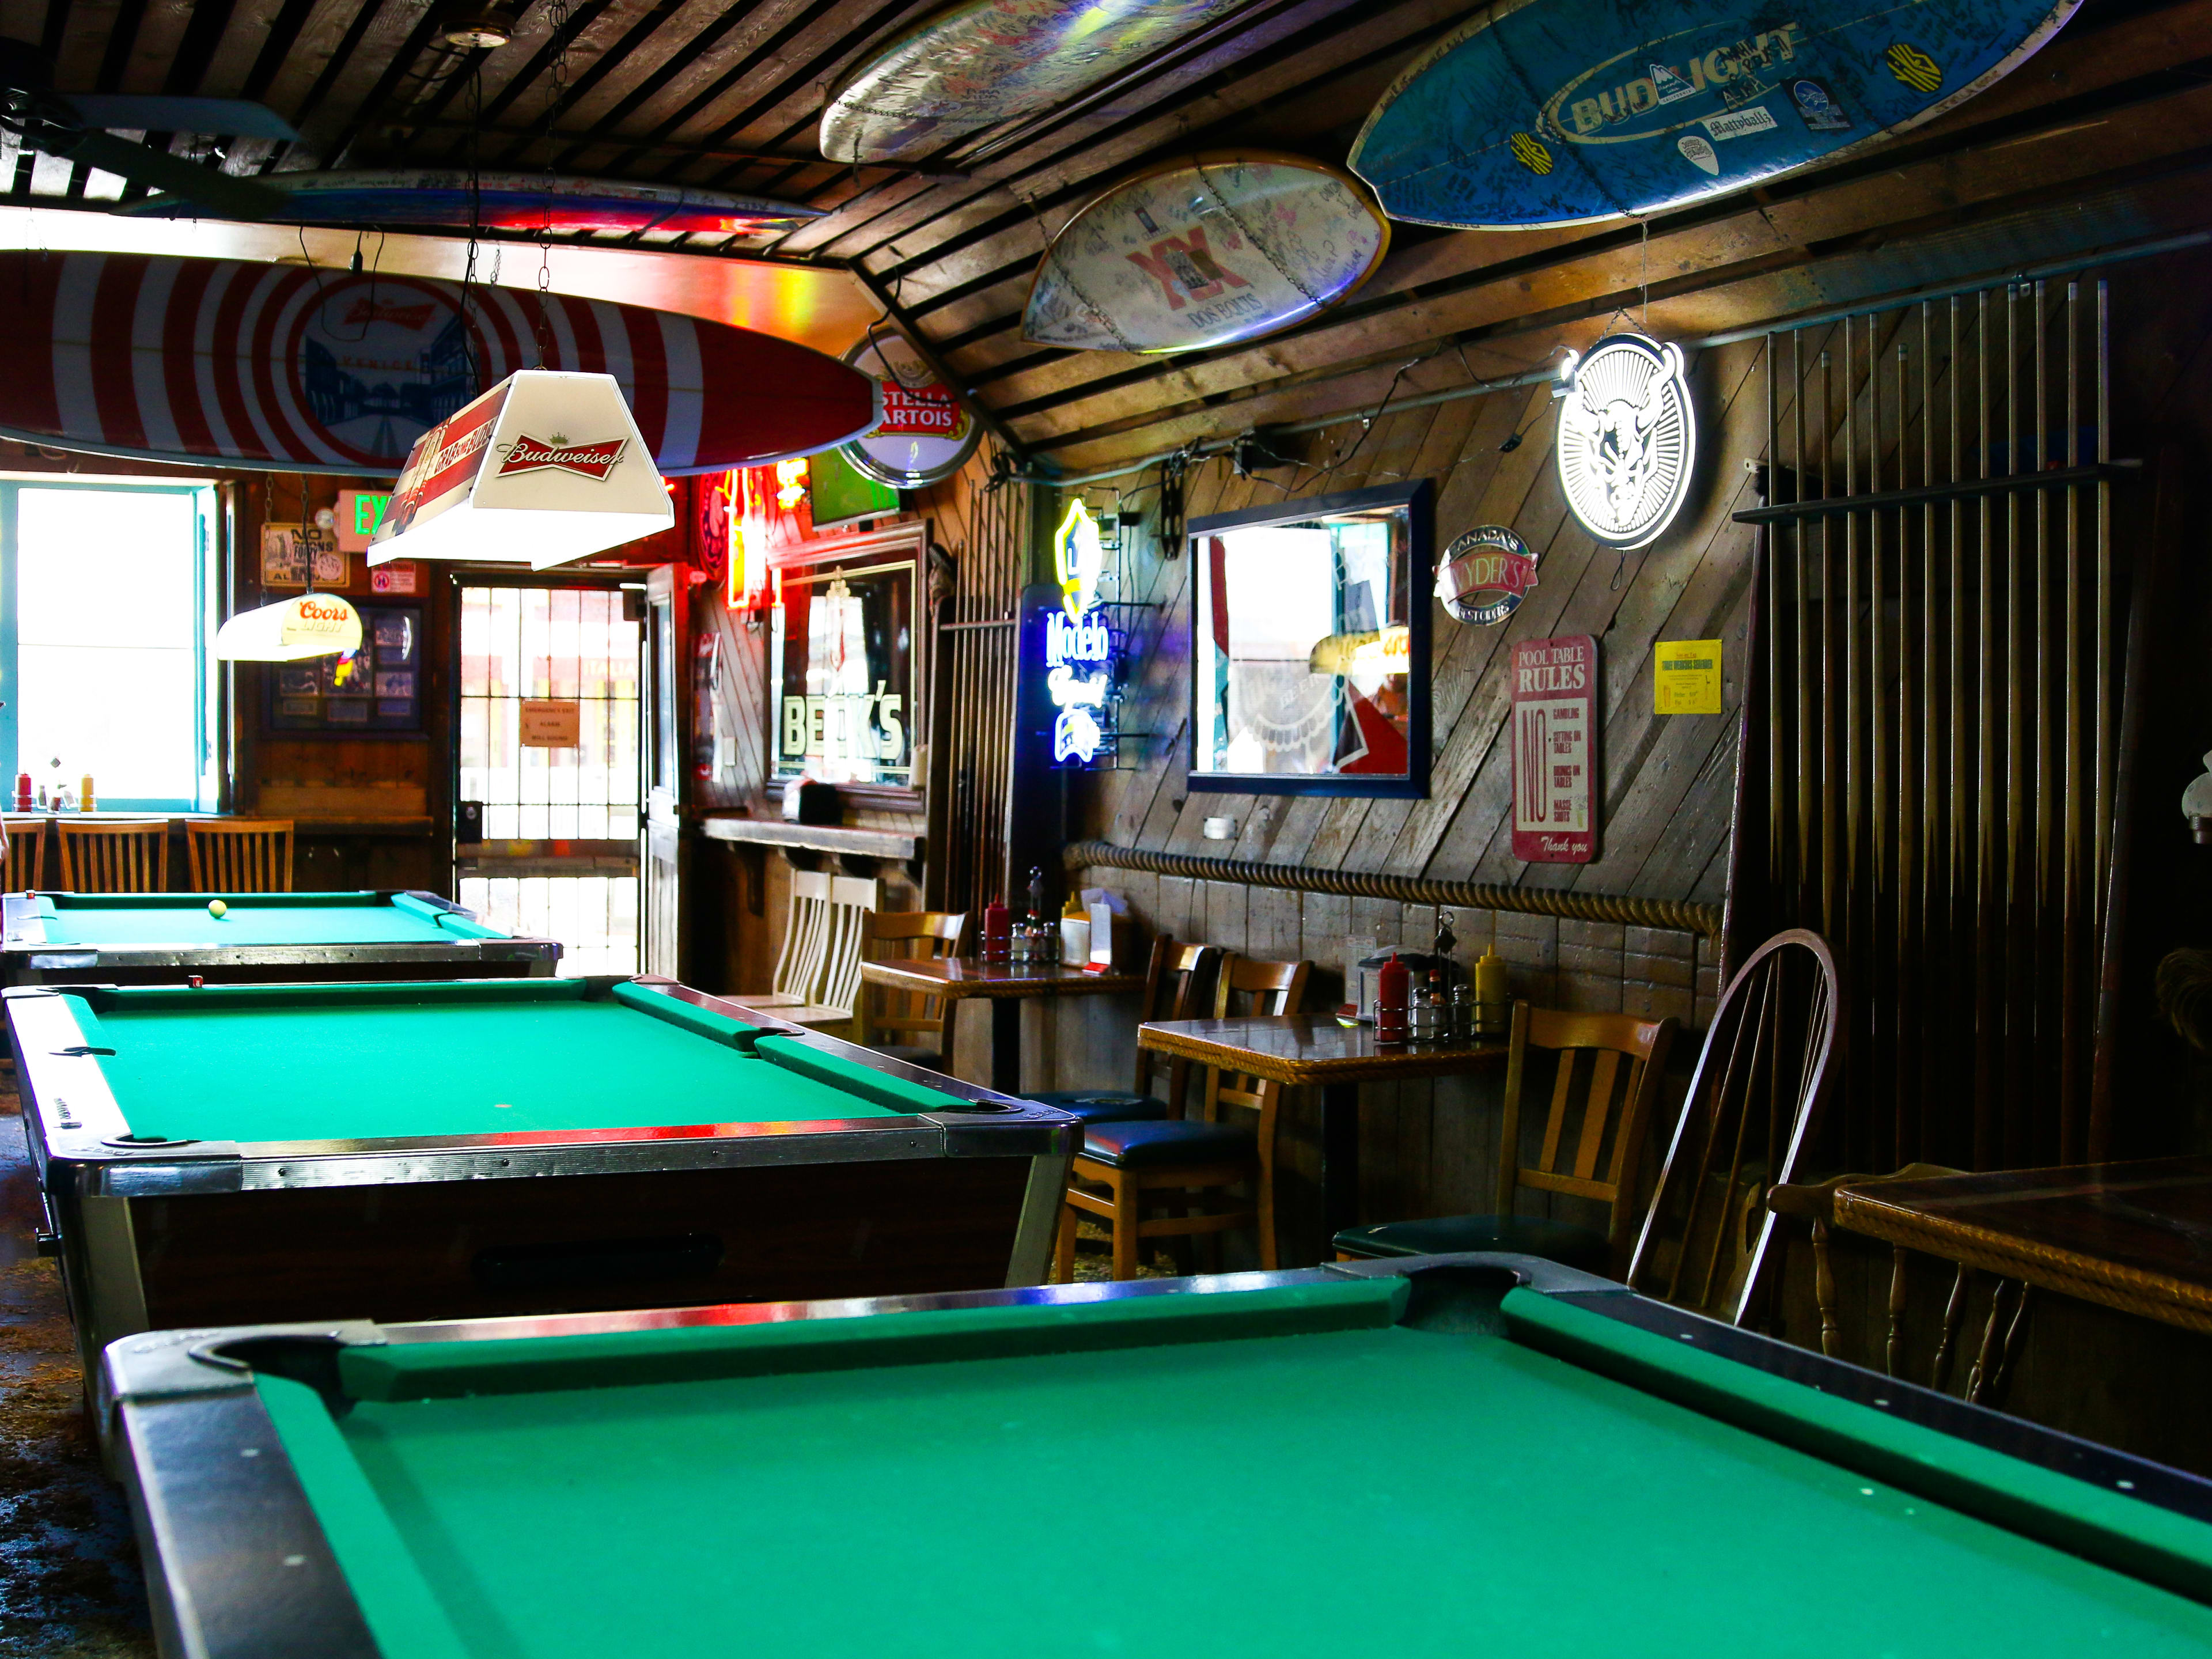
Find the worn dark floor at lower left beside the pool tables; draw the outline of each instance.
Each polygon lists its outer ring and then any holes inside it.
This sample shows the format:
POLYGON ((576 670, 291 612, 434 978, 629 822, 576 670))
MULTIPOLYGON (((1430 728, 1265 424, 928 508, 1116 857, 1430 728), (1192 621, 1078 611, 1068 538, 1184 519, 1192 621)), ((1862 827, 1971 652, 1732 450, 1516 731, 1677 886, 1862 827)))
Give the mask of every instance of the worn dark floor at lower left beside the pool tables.
POLYGON ((38 1256, 38 1179, 0 1073, 0 1659, 146 1659, 131 1515, 100 1473, 62 1279, 38 1256))

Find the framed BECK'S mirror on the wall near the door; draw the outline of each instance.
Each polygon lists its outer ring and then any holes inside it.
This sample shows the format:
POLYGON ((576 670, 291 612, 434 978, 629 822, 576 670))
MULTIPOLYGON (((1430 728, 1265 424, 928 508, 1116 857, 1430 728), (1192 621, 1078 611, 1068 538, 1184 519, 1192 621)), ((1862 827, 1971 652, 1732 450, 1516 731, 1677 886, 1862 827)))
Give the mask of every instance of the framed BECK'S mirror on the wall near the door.
POLYGON ((768 754, 772 779, 918 792, 927 741, 916 692, 927 628, 925 531, 830 535, 772 555, 768 754))

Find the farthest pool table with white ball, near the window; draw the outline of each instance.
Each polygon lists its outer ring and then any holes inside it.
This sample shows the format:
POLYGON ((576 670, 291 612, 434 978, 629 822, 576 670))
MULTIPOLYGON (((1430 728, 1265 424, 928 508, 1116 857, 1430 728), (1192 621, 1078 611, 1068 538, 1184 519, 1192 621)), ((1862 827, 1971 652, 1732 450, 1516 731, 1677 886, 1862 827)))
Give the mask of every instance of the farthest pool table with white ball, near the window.
POLYGON ((9 894, 4 911, 0 984, 498 980, 560 962, 553 940, 436 894, 9 894))

